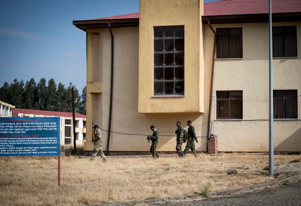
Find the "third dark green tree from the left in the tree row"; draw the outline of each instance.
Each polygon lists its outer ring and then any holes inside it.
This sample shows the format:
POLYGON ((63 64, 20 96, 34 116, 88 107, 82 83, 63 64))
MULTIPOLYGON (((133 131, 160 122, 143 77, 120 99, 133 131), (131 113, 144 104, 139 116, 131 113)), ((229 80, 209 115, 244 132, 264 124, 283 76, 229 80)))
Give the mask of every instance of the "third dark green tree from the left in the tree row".
POLYGON ((37 109, 35 103, 38 103, 37 84, 34 78, 26 81, 22 96, 23 109, 37 109))

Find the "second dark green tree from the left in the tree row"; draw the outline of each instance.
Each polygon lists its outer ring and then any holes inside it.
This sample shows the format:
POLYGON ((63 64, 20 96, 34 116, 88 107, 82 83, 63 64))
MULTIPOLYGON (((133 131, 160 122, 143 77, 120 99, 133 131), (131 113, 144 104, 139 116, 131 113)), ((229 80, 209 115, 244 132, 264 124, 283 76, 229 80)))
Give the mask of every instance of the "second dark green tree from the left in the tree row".
POLYGON ((23 87, 23 79, 21 81, 14 79, 14 83, 10 84, 11 98, 9 104, 14 105, 16 108, 22 108, 23 87))

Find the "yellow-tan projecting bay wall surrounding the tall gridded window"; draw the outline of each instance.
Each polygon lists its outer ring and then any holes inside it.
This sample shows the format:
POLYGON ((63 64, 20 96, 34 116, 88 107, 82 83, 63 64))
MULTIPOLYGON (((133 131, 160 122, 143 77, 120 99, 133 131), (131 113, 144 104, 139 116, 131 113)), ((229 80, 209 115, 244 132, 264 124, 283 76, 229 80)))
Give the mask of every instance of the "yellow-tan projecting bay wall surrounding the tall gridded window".
POLYGON ((139 1, 139 113, 203 113, 203 1, 139 1), (185 97, 153 97, 154 27, 185 27, 185 97))

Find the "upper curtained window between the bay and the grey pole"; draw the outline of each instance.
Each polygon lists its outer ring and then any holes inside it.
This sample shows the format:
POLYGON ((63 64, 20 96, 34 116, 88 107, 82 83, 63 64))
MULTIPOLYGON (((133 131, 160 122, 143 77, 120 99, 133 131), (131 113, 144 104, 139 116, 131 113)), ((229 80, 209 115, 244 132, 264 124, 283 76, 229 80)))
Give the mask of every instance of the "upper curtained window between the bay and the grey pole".
POLYGON ((242 28, 216 28, 216 59, 243 58, 242 28))

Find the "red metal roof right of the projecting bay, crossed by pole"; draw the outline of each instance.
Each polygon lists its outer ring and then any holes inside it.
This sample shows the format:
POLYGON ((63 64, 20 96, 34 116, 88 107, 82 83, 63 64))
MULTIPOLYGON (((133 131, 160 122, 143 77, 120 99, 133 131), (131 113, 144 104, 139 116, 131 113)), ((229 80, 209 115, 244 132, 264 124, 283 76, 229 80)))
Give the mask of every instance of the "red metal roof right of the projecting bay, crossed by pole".
MULTIPOLYGON (((219 0, 204 3, 204 16, 267 14, 268 0, 219 0)), ((301 0, 272 0, 272 13, 301 12, 301 0)))

